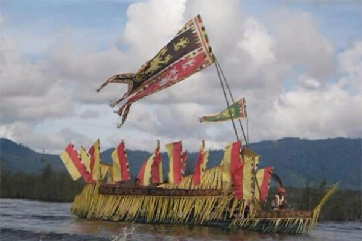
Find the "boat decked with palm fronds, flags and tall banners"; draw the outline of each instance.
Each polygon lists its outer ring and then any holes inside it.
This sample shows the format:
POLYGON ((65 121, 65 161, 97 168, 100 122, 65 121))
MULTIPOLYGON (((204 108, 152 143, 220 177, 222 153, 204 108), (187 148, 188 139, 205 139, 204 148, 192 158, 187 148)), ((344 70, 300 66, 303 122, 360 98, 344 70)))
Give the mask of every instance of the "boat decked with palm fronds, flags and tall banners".
POLYGON ((193 174, 184 175, 187 151, 182 151, 181 141, 172 142, 165 145, 169 168, 164 178, 161 145, 157 141, 155 151, 142 164, 135 180, 131 180, 123 140, 111 154, 111 165, 104 164, 100 158, 99 140, 88 151, 81 147, 79 153, 70 143, 60 158, 74 180, 82 177, 86 182, 73 201, 72 214, 89 220, 220 225, 292 234, 309 232, 314 227, 321 208, 338 184, 326 190, 312 210, 266 208, 271 178, 277 185, 283 184, 273 173, 273 167, 258 169, 260 156, 249 149, 241 122, 247 118, 245 98, 234 100, 221 65, 209 46, 200 16, 186 23, 171 42, 136 73, 112 76, 97 91, 108 83, 128 84, 127 92, 110 103, 111 107, 121 105, 116 111, 122 117, 118 125, 121 128, 132 103, 211 64, 215 64, 227 108, 202 116, 199 121, 231 120, 236 137, 236 141, 225 146, 220 164, 206 168, 209 151, 205 150, 202 140, 193 174), (244 145, 237 132, 238 123, 244 145))

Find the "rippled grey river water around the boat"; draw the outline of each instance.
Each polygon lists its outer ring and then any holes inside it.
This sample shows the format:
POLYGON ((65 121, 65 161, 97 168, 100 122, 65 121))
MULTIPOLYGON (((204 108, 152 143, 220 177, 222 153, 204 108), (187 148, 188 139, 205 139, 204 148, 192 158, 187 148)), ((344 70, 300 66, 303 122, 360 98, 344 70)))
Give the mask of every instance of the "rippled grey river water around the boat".
POLYGON ((143 241, 352 241, 362 240, 361 223, 320 223, 311 234, 292 236, 176 224, 87 221, 70 214, 70 203, 0 199, 0 240, 143 241))

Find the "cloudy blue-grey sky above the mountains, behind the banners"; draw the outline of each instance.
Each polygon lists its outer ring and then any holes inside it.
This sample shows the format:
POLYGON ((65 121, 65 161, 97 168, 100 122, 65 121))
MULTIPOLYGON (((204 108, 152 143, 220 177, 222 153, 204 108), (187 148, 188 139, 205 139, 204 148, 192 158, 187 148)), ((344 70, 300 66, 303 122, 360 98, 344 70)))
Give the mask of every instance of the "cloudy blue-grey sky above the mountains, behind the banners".
MULTIPOLYGON (((200 124, 226 107, 215 66, 132 105, 108 106, 126 85, 95 89, 135 72, 201 14, 236 98, 245 96, 249 141, 362 136, 360 1, 1 1, 0 135, 59 153, 69 141, 101 149, 125 139, 201 139, 222 148, 231 122, 200 124)), ((244 126, 246 125, 243 121, 244 126)))

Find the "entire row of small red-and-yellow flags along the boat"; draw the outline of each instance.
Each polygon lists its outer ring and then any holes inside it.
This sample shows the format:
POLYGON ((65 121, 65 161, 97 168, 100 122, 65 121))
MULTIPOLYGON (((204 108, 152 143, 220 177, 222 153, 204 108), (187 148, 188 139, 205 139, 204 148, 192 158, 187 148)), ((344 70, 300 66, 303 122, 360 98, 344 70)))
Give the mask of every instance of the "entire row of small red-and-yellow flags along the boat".
MULTIPOLYGON (((169 157, 168 182, 180 184, 185 172, 187 151, 182 152, 181 141, 168 143, 165 147, 169 157)), ((109 183, 130 180, 129 163, 123 140, 114 149, 111 157, 112 165, 101 162, 99 139, 88 151, 81 147, 80 154, 78 154, 70 143, 60 154, 60 159, 73 180, 83 177, 85 182, 92 183, 105 179, 107 173, 109 183)), ((208 159, 209 151, 205 151, 205 142, 202 140, 192 178, 193 186, 197 187, 202 183, 208 159)), ((233 184, 237 199, 250 200, 252 197, 256 197, 259 201, 266 200, 273 168, 266 167, 258 170, 258 163, 259 156, 251 150, 243 148, 240 141, 225 146, 224 156, 220 163, 222 180, 233 184)), ((163 183, 160 141, 157 141, 156 149, 150 158, 142 164, 137 179, 139 180, 138 185, 142 186, 163 183)))

